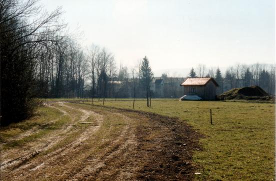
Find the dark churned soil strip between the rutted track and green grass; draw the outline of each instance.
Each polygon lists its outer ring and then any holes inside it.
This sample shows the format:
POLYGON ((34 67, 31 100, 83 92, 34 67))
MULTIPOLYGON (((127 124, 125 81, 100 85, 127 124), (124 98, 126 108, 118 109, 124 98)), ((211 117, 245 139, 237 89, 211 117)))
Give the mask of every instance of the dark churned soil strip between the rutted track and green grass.
POLYGON ((135 173, 142 180, 191 180, 197 166, 192 163, 192 151, 200 150, 198 139, 203 135, 177 117, 129 109, 146 116, 147 124, 136 127, 137 147, 131 159, 142 160, 135 173))

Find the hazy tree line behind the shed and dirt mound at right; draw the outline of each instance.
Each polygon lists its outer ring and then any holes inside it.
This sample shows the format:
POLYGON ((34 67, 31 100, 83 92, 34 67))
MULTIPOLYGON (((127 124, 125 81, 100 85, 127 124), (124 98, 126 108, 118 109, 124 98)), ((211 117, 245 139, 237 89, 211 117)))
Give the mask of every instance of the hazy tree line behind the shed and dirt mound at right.
POLYGON ((231 88, 258 85, 270 94, 275 94, 275 64, 267 65, 254 63, 251 65, 236 63, 222 73, 219 67, 206 69, 199 64, 196 69, 191 68, 189 77, 213 77, 219 84, 219 92, 231 88), (198 75, 198 76, 197 76, 198 75))

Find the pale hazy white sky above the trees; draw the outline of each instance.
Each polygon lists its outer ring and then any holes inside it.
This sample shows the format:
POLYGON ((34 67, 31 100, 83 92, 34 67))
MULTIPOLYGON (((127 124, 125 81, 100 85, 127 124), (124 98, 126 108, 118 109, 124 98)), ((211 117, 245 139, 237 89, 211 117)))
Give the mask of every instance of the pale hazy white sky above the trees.
POLYGON ((156 76, 197 64, 275 63, 274 0, 41 0, 62 6, 83 47, 106 47, 117 63, 148 57, 156 76))

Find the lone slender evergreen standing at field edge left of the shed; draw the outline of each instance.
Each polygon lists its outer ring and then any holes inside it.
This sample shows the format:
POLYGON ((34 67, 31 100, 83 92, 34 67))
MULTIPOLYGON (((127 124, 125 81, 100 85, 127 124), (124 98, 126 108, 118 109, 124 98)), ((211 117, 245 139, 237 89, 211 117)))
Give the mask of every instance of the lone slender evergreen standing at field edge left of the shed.
POLYGON ((148 95, 150 93, 150 82, 153 80, 153 72, 149 66, 149 61, 146 56, 142 60, 140 71, 141 71, 141 79, 145 90, 146 105, 149 106, 148 95))

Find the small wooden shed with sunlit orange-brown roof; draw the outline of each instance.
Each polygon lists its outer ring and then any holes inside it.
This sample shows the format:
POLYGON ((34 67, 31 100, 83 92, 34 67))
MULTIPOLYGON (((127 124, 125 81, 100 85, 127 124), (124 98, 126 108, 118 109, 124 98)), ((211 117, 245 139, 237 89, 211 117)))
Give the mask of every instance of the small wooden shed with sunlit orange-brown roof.
POLYGON ((214 100, 218 84, 212 77, 186 78, 180 84, 184 95, 197 95, 204 100, 214 100))

